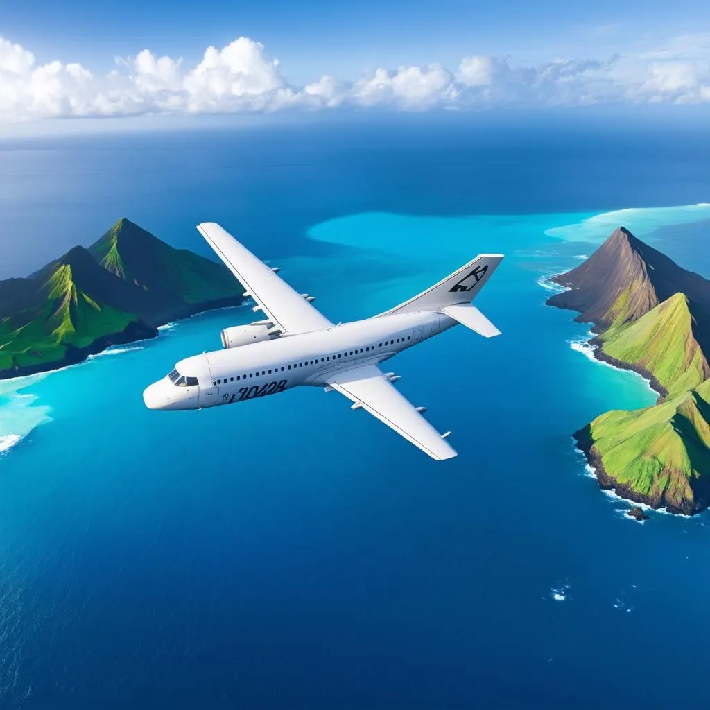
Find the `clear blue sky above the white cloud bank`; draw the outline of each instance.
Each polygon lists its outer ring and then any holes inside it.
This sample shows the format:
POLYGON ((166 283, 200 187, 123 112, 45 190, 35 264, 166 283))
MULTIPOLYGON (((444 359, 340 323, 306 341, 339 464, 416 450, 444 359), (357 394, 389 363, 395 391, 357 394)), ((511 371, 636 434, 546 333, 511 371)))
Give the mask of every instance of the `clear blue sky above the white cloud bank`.
POLYGON ((0 35, 38 60, 107 70, 114 56, 144 48, 197 60, 207 45, 244 35, 275 53, 289 80, 305 83, 381 65, 453 65, 469 54, 598 57, 699 26, 710 26, 709 6, 700 0, 24 0, 4 4, 0 35))

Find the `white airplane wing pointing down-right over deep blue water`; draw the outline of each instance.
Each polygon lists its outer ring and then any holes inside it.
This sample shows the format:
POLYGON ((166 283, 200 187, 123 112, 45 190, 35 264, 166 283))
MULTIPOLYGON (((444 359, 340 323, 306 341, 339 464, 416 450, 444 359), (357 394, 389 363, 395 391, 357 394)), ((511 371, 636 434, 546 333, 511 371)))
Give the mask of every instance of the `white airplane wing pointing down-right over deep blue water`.
POLYGON ((443 461, 456 456, 446 439, 401 395, 376 365, 366 365, 339 373, 329 385, 363 408, 432 459, 443 461))

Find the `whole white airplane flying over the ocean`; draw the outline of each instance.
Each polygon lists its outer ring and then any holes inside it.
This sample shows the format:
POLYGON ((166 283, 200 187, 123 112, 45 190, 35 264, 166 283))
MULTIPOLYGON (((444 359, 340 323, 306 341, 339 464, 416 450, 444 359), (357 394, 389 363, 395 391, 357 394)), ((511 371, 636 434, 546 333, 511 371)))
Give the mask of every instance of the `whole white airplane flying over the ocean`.
POLYGON ((263 320, 225 328, 222 350, 180 360, 143 392, 154 410, 191 410, 244 402, 300 385, 337 391, 391 427, 432 459, 457 455, 447 437, 395 388, 399 379, 380 365, 457 324, 489 338, 501 332, 472 301, 503 260, 479 254, 439 283, 366 320, 333 324, 229 232, 214 222, 197 226, 256 302, 263 320))

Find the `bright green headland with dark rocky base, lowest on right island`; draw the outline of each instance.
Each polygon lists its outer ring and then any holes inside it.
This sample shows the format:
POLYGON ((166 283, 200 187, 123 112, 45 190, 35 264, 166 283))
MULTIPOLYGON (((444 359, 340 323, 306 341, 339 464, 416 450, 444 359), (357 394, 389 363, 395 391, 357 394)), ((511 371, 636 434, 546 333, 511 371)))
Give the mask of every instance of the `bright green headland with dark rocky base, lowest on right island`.
POLYGON ((607 412, 575 437, 602 488, 673 513, 710 503, 710 380, 652 407, 607 412))

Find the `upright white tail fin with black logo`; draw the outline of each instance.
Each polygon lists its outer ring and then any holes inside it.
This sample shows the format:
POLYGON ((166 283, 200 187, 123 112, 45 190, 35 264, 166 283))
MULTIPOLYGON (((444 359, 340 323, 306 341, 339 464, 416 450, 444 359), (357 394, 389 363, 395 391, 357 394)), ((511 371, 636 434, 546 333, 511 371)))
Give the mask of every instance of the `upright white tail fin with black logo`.
POLYGON ((400 303, 381 315, 413 313, 417 311, 443 311, 454 305, 470 303, 484 288, 493 271, 503 261, 503 254, 479 254, 473 261, 461 266, 458 271, 447 276, 410 300, 400 303))

